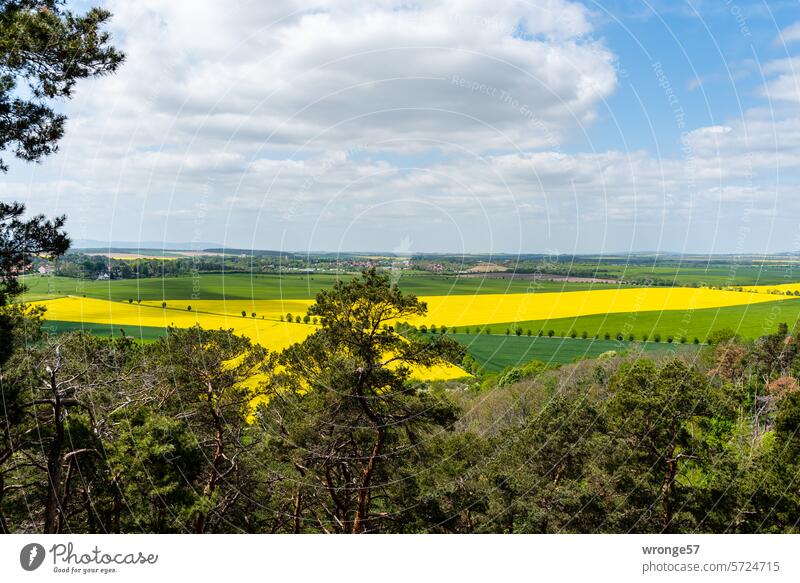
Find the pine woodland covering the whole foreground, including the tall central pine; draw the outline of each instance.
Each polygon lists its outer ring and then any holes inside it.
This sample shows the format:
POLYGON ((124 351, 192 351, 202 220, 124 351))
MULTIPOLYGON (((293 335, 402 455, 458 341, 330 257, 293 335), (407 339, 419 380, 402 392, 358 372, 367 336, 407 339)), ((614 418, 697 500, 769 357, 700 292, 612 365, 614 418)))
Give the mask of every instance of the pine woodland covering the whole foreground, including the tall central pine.
POLYGON ((269 353, 228 331, 43 336, 5 308, 4 532, 796 532, 800 342, 606 354, 430 383, 463 358, 368 271, 269 353), (399 331, 404 330, 403 333, 399 331))

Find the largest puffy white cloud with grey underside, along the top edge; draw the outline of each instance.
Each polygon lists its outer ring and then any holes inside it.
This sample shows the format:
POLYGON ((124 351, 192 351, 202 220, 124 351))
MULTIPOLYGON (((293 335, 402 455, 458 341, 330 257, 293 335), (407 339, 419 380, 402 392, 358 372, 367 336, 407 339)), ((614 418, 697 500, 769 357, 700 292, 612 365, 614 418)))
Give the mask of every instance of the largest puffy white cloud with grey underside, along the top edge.
POLYGON ((616 86, 613 55, 565 0, 264 4, 110 2, 128 62, 83 96, 93 121, 116 108, 104 142, 127 131, 164 147, 321 151, 437 136, 527 148, 590 122, 616 86))

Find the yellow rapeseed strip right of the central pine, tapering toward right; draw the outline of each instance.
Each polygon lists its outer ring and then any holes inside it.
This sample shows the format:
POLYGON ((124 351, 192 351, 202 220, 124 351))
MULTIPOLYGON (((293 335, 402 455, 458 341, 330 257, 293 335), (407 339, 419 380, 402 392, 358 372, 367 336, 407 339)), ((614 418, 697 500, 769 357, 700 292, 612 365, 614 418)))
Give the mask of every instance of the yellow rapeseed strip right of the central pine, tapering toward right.
POLYGON ((427 296, 428 313, 410 322, 430 326, 473 326, 547 320, 590 314, 699 310, 790 299, 707 288, 658 287, 541 294, 427 296))

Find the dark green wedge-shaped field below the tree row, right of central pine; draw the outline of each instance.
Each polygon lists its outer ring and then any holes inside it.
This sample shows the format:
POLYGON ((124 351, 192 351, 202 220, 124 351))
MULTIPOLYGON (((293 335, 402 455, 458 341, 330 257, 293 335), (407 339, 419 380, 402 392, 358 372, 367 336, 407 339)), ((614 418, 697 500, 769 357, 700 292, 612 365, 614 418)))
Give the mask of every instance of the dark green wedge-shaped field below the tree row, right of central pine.
POLYGON ((453 334, 452 337, 463 344, 467 352, 490 372, 498 372, 507 366, 517 366, 531 360, 541 360, 548 364, 567 364, 581 358, 594 358, 609 350, 675 352, 696 349, 693 345, 666 342, 618 342, 546 336, 529 338, 504 334, 453 334))

